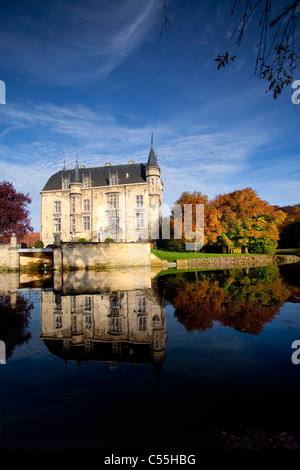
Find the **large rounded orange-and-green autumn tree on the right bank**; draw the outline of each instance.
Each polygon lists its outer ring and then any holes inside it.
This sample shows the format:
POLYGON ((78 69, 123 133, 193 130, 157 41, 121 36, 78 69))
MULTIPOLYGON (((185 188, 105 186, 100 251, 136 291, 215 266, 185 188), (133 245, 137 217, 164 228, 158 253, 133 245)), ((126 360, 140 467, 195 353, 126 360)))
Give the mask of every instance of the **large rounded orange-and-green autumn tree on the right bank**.
POLYGON ((228 251, 246 247, 250 253, 275 252, 279 226, 285 219, 283 211, 276 211, 251 188, 219 195, 212 205, 222 214, 218 245, 228 251))

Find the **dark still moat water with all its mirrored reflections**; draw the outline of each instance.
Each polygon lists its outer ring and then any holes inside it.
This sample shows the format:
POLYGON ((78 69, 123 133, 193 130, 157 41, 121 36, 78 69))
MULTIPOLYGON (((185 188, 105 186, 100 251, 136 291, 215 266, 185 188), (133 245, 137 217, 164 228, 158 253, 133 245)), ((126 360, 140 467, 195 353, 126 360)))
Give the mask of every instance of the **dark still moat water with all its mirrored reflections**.
POLYGON ((3 274, 0 449, 298 448, 299 274, 3 274))

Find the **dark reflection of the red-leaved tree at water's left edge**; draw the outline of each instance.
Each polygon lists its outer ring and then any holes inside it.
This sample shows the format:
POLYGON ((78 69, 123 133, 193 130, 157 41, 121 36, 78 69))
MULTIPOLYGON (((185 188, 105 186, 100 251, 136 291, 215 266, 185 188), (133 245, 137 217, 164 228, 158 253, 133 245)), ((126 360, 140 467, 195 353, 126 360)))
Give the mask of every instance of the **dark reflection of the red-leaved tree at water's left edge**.
POLYGON ((31 338, 28 331, 33 304, 22 295, 14 301, 10 296, 0 296, 0 339, 4 341, 6 359, 12 357, 16 346, 31 338))

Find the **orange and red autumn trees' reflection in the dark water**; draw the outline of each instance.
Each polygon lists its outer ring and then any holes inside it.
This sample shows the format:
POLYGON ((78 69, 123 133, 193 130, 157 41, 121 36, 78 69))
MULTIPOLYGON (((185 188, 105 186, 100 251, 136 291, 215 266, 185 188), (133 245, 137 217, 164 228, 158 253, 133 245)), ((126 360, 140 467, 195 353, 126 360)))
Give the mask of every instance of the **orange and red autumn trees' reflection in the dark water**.
POLYGON ((165 289, 175 316, 188 331, 205 331, 215 321, 257 335, 290 297, 276 265, 248 272, 197 272, 174 277, 165 289))

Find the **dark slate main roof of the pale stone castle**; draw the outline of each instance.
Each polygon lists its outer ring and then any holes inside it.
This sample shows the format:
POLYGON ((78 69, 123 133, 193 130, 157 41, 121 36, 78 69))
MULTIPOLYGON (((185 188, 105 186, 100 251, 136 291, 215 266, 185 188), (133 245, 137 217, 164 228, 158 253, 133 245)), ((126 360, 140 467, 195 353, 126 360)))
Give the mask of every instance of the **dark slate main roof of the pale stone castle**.
MULTIPOLYGON (((150 152, 151 153, 151 152, 150 152)), ((150 155, 149 155, 150 158, 150 155)), ((148 160, 149 161, 149 160, 148 160)), ((156 163, 157 165, 157 163, 156 163)), ((84 175, 91 175, 91 187, 109 186, 109 175, 117 171, 118 184, 132 184, 146 182, 146 163, 128 163, 124 165, 98 166, 91 168, 78 168, 79 179, 82 182, 84 175), (128 174, 128 177, 126 177, 128 174)), ((152 166, 152 165, 151 165, 152 166)), ((76 175, 76 180, 78 179, 76 175)), ((74 169, 60 170, 50 176, 42 191, 60 190, 62 189, 62 177, 69 177, 70 181, 74 178, 74 169)))

